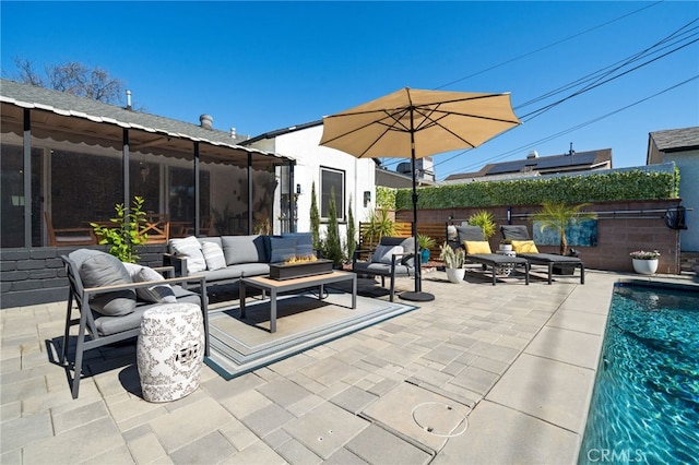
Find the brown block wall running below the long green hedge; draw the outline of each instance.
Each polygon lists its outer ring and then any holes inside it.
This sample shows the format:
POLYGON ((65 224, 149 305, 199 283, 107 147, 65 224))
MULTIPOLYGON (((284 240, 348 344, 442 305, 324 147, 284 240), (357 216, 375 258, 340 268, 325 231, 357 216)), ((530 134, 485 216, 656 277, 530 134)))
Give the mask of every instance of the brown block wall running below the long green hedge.
MULTIPOLYGON (((665 211, 680 203, 678 199, 656 201, 627 201, 627 202, 599 202, 584 210, 593 212, 624 212, 624 211, 665 211)), ((419 222, 443 222, 450 219, 465 220, 479 210, 488 210, 493 213, 495 222, 499 225, 507 224, 507 206, 488 208, 439 208, 419 210, 419 222)), ((526 225, 532 233, 532 224, 518 215, 530 215, 541 210, 541 205, 514 205, 512 206, 512 224, 526 225)), ((621 216, 621 215, 619 215, 621 216)), ((597 245, 595 247, 576 247, 580 252, 585 267, 594 270, 633 272, 629 253, 635 250, 659 250, 661 258, 657 273, 679 274, 679 230, 665 226, 662 212, 643 213, 638 216, 648 218, 608 218, 597 220, 597 245), (652 216, 652 217, 651 217, 652 216)), ((411 222, 413 211, 402 210, 395 212, 399 222, 411 222)), ((490 247, 497 249, 500 235, 490 239, 490 247)), ((558 246, 541 246, 540 251, 558 253, 558 246)))

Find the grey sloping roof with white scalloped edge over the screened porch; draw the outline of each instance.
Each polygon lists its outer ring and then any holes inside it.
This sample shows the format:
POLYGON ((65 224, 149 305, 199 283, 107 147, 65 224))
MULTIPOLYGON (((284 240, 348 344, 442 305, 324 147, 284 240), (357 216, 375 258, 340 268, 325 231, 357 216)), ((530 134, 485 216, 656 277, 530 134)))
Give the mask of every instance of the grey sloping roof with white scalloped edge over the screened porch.
POLYGON ((230 133, 215 129, 205 129, 198 124, 178 121, 157 115, 133 111, 116 105, 109 105, 92 98, 78 97, 66 92, 54 91, 0 80, 0 102, 22 108, 36 108, 56 115, 83 118, 99 123, 114 124, 125 129, 138 129, 161 133, 173 138, 188 139, 217 146, 237 148, 249 153, 291 159, 271 152, 245 147, 230 133))

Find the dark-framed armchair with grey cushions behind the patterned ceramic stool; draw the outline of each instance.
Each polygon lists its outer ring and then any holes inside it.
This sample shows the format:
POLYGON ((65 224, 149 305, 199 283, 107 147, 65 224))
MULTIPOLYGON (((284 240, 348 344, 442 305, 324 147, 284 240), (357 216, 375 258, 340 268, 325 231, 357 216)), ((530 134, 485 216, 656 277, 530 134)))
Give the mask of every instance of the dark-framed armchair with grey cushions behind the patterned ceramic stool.
MULTIPOLYGON (((118 259, 108 255, 111 257, 111 259, 106 260, 104 255, 108 254, 92 249, 78 249, 69 255, 61 255, 61 260, 66 265, 70 290, 68 295, 68 310, 66 313, 66 330, 60 353, 60 363, 63 365, 67 370, 70 370, 71 366, 74 370, 71 389, 73 398, 78 398, 80 390, 84 353, 107 344, 138 336, 141 330, 143 313, 145 310, 158 305, 154 302, 154 300, 158 300, 159 298, 165 300, 165 294, 171 295, 177 302, 199 305, 204 318, 205 334, 209 332, 206 295, 194 294, 179 286, 179 284, 189 281, 199 283, 201 288, 205 289, 206 279, 204 276, 185 276, 134 283, 131 282, 130 278, 121 279, 121 277, 118 276, 120 274, 120 270, 117 269, 120 263, 118 259), (94 284, 97 282, 103 283, 94 284), (122 284, 117 284, 119 282, 122 284), (157 290, 163 285, 169 286, 170 290, 165 294, 163 294, 162 290, 157 290), (139 293, 139 290, 144 293, 139 293), (156 297, 143 300, 139 294, 146 294, 149 296, 155 294, 156 297), (130 303, 132 300, 135 300, 133 305, 130 303), (73 308, 73 302, 75 303, 75 308, 73 308), (125 309, 127 305, 131 305, 131 307, 125 309), (80 313, 79 319, 71 319, 73 310, 78 310, 80 313), (75 344, 75 358, 73 363, 70 363, 68 361, 70 327, 74 325, 79 325, 78 341, 75 344)), ((204 351, 205 355, 209 355, 208 336, 204 351)), ((68 374, 70 378, 70 373, 68 374)))

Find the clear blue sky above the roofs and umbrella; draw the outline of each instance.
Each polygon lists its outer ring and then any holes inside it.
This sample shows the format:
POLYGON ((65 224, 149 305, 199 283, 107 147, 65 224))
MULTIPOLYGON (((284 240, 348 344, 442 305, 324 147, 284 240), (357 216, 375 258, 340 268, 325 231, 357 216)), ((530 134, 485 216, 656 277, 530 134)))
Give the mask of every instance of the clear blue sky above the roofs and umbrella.
POLYGON ((612 148, 614 167, 644 165, 649 132, 699 126, 697 1, 3 0, 0 9, 3 78, 15 75, 15 57, 37 70, 80 61, 125 81, 137 108, 192 123, 206 112, 216 129, 252 136, 405 86, 510 92, 524 123, 435 156, 438 179, 531 150, 562 154, 571 142, 577 152, 612 148))

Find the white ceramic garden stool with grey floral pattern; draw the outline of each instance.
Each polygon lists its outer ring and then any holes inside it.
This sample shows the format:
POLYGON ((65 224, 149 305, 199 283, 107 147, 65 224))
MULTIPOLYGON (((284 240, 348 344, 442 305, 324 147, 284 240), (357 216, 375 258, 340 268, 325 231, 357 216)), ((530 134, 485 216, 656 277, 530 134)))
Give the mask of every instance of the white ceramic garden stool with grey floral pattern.
POLYGON ((143 398, 170 402, 199 388, 204 325, 194 303, 163 303, 143 313, 137 365, 143 398))

